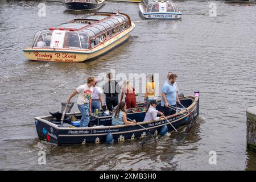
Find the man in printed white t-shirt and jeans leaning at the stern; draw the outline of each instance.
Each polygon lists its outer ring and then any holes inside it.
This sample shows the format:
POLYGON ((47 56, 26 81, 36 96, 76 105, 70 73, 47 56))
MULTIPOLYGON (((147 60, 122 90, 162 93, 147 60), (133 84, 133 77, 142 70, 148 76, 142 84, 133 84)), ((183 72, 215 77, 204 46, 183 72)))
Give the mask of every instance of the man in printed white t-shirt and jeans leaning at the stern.
POLYGON ((79 94, 77 97, 77 106, 82 114, 80 127, 88 127, 90 121, 89 114, 92 114, 92 86, 95 85, 95 82, 96 78, 88 77, 87 84, 77 87, 67 100, 69 103, 72 97, 79 94))

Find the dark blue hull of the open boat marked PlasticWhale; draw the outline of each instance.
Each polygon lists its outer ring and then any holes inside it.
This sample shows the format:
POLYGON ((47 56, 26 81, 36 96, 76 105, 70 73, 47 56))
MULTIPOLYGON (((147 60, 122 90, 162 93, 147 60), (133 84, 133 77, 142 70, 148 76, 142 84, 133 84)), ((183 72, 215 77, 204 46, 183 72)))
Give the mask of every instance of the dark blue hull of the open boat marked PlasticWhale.
MULTIPOLYGON (((185 102, 182 102, 185 104, 185 102)), ((199 115, 199 98, 193 102, 193 106, 189 108, 189 113, 176 113, 168 118, 172 125, 179 129, 185 125, 192 125, 199 115)), ((185 106, 187 107, 187 106, 185 106)), ((127 118, 143 121, 145 113, 130 113, 127 118)), ((89 126, 97 125, 97 127, 58 127, 59 124, 47 121, 49 117, 35 118, 36 130, 41 140, 47 140, 55 144, 85 144, 85 143, 104 143, 106 135, 110 132, 114 141, 133 140, 136 138, 146 137, 148 130, 152 135, 158 135, 162 127, 167 126, 168 131, 174 128, 166 121, 147 121, 140 124, 111 126, 112 117, 101 117, 90 121, 89 126), (104 124, 105 126, 99 127, 104 124)))

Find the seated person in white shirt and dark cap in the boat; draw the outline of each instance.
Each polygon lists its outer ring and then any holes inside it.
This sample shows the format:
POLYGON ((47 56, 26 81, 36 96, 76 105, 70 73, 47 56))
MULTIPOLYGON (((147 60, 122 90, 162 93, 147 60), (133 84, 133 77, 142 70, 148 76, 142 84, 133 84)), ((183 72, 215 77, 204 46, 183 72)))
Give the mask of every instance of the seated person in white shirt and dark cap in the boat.
POLYGON ((150 121, 150 120, 158 121, 159 119, 164 118, 164 114, 156 110, 157 105, 158 105, 158 102, 156 102, 156 100, 150 101, 146 109, 146 116, 144 118, 144 121, 150 121), (160 114, 161 116, 158 117, 158 114, 160 114))

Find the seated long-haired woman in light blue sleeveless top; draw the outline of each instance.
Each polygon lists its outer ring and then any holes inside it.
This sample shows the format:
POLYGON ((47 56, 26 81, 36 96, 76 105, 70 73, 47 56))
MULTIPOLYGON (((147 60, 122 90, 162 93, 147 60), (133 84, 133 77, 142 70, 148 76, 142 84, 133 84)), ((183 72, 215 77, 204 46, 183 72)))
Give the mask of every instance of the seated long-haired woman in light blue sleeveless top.
POLYGON ((133 119, 133 121, 127 121, 125 109, 126 103, 123 101, 119 102, 112 115, 112 125, 129 125, 136 123, 135 119, 133 119))

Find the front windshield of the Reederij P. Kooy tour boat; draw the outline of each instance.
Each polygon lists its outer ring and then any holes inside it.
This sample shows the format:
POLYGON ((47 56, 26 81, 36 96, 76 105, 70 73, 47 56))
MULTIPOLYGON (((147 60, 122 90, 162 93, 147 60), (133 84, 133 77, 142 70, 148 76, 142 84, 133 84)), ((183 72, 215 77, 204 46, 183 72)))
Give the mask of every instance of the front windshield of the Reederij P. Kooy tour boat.
POLYGON ((36 33, 32 48, 88 49, 89 36, 85 32, 43 30, 36 33))

